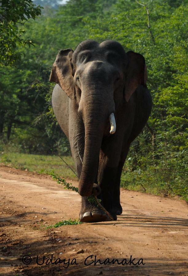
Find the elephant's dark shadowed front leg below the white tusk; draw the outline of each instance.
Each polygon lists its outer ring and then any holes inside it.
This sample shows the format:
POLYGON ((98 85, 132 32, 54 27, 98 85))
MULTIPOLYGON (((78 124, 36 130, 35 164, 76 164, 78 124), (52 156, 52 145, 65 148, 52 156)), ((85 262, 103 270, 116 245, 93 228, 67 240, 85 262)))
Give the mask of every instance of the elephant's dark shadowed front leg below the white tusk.
POLYGON ((126 140, 130 135, 132 124, 133 118, 124 125, 117 124, 116 133, 103 141, 100 151, 98 182, 102 190, 102 203, 114 220, 122 213, 120 178, 129 149, 126 140))

